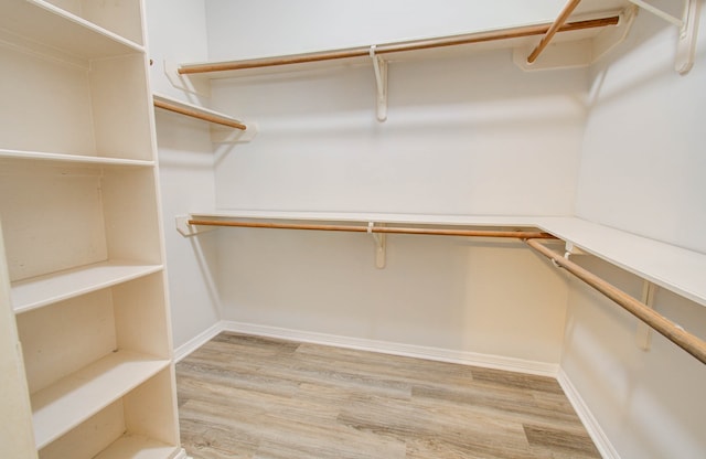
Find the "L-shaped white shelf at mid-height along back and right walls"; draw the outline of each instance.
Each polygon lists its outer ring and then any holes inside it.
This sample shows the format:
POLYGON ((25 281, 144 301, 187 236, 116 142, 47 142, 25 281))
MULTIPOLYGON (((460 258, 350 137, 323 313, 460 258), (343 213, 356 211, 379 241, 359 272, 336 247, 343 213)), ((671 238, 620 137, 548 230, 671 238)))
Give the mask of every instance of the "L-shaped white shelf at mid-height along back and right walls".
POLYGON ((192 213, 199 220, 359 222, 469 227, 539 228, 559 239, 706 306, 706 255, 577 217, 422 215, 383 213, 214 211, 192 213))

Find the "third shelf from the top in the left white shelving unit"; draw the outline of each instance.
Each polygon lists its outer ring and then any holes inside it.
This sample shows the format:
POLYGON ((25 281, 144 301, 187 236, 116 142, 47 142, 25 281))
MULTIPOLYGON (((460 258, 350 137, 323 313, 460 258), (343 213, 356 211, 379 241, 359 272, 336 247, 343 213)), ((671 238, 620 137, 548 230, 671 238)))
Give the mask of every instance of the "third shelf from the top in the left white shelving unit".
POLYGON ((127 282, 161 269, 161 265, 111 260, 20 280, 12 282, 11 286, 13 309, 15 313, 30 311, 127 282))

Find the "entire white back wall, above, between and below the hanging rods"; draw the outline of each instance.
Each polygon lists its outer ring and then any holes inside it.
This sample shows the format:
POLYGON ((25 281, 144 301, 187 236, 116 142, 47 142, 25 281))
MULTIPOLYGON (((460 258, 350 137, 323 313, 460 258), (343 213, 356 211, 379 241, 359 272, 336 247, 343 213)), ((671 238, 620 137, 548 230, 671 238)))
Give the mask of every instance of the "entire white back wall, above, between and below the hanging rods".
MULTIPOLYGON (((458 33, 527 13, 522 2, 474 3, 473 14, 466 2, 376 2, 396 20, 371 23, 371 3, 334 12, 321 1, 208 1, 210 55, 458 33)), ((533 20, 560 9, 534 7, 533 20)), ((525 74, 507 50, 393 62, 384 124, 371 65, 213 81, 214 107, 260 128, 253 142, 218 150, 216 206, 571 214, 587 76, 525 74)), ((218 238, 224 319, 558 362, 566 285, 517 244, 391 236, 378 270, 367 236, 227 230, 218 238)))

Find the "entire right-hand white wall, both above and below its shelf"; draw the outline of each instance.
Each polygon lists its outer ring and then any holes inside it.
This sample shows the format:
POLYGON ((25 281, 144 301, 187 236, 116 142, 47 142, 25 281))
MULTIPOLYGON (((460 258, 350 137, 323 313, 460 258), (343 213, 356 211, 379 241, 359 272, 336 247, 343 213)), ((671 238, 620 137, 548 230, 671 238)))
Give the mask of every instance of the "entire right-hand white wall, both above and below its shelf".
MULTIPOLYGON (((628 43, 595 68, 579 216, 706 252, 705 14, 703 8, 696 64, 687 75, 673 70, 676 30, 646 12, 628 43)), ((634 276, 581 263, 640 297, 634 276)), ((660 290, 656 309, 706 339, 703 306, 660 290)), ((643 352, 635 330, 635 319, 573 281, 563 370, 620 457, 704 457, 706 366, 661 335, 643 352)))

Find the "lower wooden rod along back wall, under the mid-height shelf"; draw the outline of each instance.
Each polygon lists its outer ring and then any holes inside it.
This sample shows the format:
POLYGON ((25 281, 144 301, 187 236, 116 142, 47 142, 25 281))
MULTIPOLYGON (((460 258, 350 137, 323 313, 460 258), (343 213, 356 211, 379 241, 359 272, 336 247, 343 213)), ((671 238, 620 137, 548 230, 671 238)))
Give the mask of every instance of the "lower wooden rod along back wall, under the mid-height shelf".
POLYGON ((360 226, 360 225, 322 225, 309 223, 271 223, 271 222, 243 222, 218 220, 190 220, 190 225, 202 226, 234 226, 246 228, 276 228, 276 230, 311 230, 311 231, 340 231, 352 233, 385 233, 385 234, 419 234, 435 236, 464 236, 464 237, 514 237, 520 239, 554 239, 549 233, 538 231, 495 231, 495 230, 442 230, 442 228, 413 228, 402 226, 360 226))

